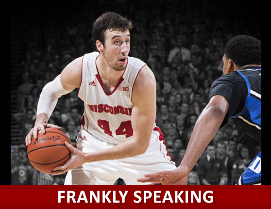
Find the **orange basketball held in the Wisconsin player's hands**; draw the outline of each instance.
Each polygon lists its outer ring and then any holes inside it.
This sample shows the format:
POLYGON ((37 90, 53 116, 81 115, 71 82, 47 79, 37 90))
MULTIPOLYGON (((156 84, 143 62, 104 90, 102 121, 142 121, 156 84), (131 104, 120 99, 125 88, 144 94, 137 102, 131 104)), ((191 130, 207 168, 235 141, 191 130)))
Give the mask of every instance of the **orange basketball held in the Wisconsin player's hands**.
POLYGON ((70 158, 70 150, 65 142, 71 144, 68 136, 59 129, 47 128, 46 133, 38 132, 37 139, 27 147, 27 157, 35 169, 51 173, 56 166, 65 164, 70 158))

